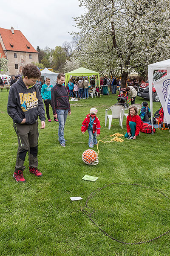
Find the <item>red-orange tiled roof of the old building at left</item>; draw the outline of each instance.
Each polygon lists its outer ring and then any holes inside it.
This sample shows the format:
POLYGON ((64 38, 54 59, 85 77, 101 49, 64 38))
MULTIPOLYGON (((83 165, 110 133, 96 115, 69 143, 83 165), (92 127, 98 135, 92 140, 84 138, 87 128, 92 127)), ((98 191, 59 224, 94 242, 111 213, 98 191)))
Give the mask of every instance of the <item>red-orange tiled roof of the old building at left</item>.
POLYGON ((0 35, 7 51, 37 52, 20 30, 14 30, 12 34, 11 29, 0 28, 0 35))

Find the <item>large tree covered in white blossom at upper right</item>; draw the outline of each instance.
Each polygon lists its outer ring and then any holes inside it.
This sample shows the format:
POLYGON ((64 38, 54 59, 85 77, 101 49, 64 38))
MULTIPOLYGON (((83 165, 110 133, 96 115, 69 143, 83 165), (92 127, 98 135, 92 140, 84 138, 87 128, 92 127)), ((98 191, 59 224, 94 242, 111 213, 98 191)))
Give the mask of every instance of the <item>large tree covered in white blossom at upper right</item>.
POLYGON ((122 86, 131 69, 169 58, 169 0, 79 0, 86 13, 74 20, 81 32, 77 58, 88 68, 114 75, 122 86))

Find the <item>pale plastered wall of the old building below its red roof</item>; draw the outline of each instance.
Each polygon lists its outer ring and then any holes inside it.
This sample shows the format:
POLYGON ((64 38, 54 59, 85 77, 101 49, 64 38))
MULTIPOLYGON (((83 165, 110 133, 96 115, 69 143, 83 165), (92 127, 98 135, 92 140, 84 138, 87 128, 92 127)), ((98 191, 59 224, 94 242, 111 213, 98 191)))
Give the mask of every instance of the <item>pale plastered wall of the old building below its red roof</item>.
POLYGON ((38 53, 6 51, 9 75, 22 73, 22 68, 31 62, 38 62, 38 53))

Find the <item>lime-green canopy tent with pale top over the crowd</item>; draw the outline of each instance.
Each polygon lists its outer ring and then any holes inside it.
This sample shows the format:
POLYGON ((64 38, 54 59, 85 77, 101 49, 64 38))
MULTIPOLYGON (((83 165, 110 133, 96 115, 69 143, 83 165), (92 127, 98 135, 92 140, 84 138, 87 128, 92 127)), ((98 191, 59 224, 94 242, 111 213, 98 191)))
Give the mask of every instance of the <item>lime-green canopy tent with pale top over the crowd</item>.
POLYGON ((99 82, 99 88, 100 88, 100 77, 99 77, 99 73, 93 70, 89 70, 87 68, 84 67, 80 67, 77 70, 73 70, 71 72, 65 73, 65 85, 68 84, 68 81, 70 79, 70 76, 88 76, 88 80, 89 80, 89 76, 98 76, 98 82, 99 82))

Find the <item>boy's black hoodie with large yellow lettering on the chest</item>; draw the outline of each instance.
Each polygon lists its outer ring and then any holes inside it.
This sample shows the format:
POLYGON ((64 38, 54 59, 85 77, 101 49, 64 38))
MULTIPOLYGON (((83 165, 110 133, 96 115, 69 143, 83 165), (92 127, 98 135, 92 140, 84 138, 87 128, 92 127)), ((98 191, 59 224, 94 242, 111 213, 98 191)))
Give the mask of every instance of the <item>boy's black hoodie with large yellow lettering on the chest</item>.
POLYGON ((26 118, 26 125, 34 124, 38 116, 45 121, 45 110, 37 85, 27 89, 22 76, 12 85, 8 96, 8 115, 15 123, 21 123, 26 118))

